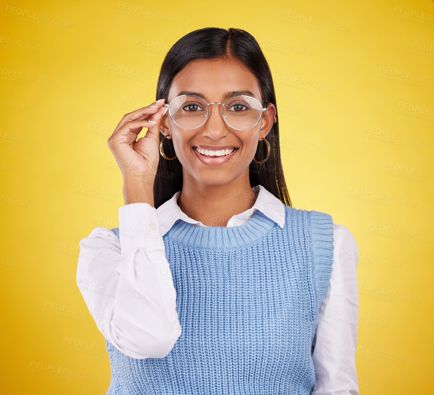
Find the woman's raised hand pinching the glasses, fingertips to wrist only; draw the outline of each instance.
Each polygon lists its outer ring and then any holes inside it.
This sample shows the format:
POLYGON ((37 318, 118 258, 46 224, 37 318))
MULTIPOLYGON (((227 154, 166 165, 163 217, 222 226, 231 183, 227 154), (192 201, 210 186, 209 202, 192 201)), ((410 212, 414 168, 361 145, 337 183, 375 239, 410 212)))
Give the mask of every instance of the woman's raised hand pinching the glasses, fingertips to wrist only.
POLYGON ((160 124, 168 108, 164 107, 164 99, 160 100, 125 114, 107 141, 124 179, 137 176, 153 182, 157 174, 160 124), (144 127, 148 128, 146 135, 136 141, 144 127))

